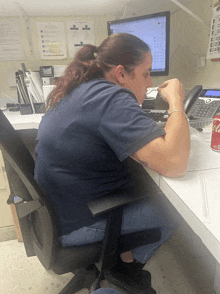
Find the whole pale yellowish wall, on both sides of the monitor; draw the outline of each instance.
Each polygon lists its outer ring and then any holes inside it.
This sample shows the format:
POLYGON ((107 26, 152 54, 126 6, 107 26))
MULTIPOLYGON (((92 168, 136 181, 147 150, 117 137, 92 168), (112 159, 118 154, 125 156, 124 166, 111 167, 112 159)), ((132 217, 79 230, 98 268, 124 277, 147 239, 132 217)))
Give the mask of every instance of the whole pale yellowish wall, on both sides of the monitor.
MULTIPOLYGON (((201 84, 203 87, 220 88, 220 62, 206 60, 206 66, 196 69, 196 55, 206 56, 209 41, 209 27, 212 18, 212 0, 201 0, 192 3, 187 7, 197 14, 203 23, 199 22, 182 9, 171 14, 170 33, 170 74, 168 77, 153 77, 153 84, 160 85, 167 79, 178 78, 184 86, 186 93, 195 85, 201 84)), ((149 11, 143 11, 147 14, 149 11)), ((27 68, 39 70, 40 65, 69 64, 70 58, 64 60, 41 60, 38 50, 37 26, 38 21, 67 21, 67 20, 93 20, 95 26, 96 45, 99 45, 107 37, 107 21, 113 20, 113 16, 65 16, 65 17, 31 17, 31 28, 35 55, 31 56, 28 50, 28 42, 23 26, 23 41, 26 53, 24 61, 27 68)), ((21 61, 1 62, 0 69, 0 97, 7 95, 16 96, 16 91, 11 90, 8 85, 7 73, 20 68, 21 61)))

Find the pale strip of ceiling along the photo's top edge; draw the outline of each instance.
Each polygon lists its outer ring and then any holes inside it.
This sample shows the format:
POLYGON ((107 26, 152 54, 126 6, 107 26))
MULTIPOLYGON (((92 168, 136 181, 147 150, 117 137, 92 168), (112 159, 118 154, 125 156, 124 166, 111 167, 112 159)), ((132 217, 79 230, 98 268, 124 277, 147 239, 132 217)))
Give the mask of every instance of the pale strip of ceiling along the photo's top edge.
MULTIPOLYGON (((200 0, 178 1, 187 5, 200 0)), ((115 15, 116 18, 180 9, 171 0, 0 0, 0 16, 19 16, 18 7, 28 16, 115 15)))

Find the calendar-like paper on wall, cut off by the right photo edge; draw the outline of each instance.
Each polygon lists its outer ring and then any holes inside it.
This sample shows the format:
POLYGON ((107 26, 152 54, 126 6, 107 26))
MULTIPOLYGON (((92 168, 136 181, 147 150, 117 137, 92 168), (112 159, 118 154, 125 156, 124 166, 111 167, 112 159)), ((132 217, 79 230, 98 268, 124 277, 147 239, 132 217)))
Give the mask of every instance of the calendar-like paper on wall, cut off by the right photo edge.
POLYGON ((207 58, 220 58, 220 6, 213 8, 207 58))

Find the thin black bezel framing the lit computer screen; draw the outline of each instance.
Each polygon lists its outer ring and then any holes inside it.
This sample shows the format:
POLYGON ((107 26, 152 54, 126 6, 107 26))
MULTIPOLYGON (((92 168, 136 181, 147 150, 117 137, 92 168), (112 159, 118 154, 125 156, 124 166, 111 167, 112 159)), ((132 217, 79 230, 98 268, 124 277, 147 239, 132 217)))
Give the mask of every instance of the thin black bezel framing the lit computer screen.
POLYGON ((166 60, 165 60, 165 70, 164 71, 151 71, 151 76, 168 76, 169 75, 169 59, 170 59, 170 11, 163 11, 158 13, 152 13, 142 16, 118 19, 107 22, 108 36, 111 35, 111 24, 125 23, 125 22, 133 22, 141 19, 149 19, 156 18, 159 16, 166 17, 166 60))

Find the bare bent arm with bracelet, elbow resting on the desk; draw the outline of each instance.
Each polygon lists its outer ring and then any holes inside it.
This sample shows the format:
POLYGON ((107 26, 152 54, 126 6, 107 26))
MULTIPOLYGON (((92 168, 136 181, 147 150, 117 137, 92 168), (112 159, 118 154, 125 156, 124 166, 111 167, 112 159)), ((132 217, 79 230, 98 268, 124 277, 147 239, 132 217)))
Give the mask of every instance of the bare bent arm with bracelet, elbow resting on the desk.
POLYGON ((177 80, 163 83, 158 91, 169 103, 169 113, 173 112, 166 123, 166 134, 158 137, 131 155, 144 166, 168 177, 185 174, 190 151, 190 135, 184 114, 184 91, 177 80))

